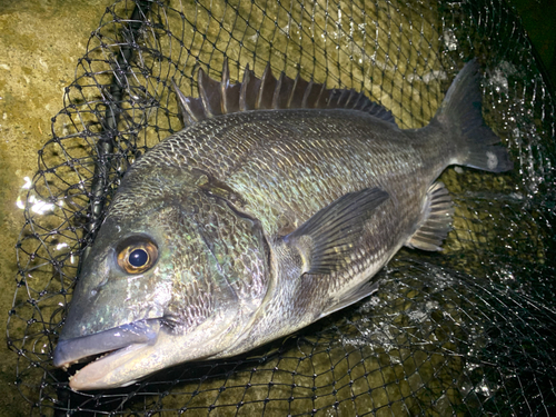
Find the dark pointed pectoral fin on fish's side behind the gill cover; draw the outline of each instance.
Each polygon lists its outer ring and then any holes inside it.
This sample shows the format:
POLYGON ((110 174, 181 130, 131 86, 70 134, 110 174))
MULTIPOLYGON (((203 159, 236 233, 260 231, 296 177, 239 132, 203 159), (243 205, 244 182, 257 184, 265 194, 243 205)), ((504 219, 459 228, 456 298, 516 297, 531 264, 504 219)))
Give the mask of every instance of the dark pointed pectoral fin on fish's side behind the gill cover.
POLYGON ((366 221, 388 198, 379 188, 349 192, 282 238, 301 258, 301 274, 331 274, 350 262, 366 221))

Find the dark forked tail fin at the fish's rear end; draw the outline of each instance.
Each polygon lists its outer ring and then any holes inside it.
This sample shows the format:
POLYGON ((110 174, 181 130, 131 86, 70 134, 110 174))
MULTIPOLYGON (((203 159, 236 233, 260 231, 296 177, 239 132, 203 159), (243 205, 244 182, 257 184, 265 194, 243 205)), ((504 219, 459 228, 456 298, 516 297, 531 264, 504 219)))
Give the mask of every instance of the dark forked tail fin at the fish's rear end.
POLYGON ((479 64, 466 63, 451 83, 435 119, 459 140, 459 157, 455 163, 490 172, 504 172, 514 167, 500 138, 487 127, 481 115, 479 64))

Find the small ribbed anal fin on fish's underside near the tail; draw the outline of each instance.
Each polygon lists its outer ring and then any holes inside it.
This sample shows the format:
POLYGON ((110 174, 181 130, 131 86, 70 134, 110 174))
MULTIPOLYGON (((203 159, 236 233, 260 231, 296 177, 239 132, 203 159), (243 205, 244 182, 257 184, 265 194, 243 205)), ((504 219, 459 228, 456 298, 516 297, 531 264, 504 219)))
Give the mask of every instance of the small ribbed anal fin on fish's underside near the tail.
POLYGON ((441 250, 454 217, 454 206, 443 182, 435 182, 427 191, 419 227, 406 242, 409 248, 441 250))

